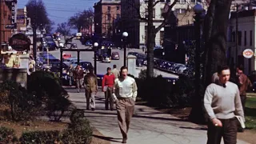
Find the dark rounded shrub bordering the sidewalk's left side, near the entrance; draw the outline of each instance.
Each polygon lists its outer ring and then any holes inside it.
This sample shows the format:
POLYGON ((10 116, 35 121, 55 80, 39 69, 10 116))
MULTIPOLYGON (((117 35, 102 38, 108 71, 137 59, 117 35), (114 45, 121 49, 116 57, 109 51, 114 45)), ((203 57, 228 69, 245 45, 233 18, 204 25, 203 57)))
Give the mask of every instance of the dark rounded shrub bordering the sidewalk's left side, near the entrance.
POLYGON ((35 71, 31 74, 28 90, 46 106, 47 116, 51 121, 60 121, 71 106, 59 78, 48 71, 35 71))

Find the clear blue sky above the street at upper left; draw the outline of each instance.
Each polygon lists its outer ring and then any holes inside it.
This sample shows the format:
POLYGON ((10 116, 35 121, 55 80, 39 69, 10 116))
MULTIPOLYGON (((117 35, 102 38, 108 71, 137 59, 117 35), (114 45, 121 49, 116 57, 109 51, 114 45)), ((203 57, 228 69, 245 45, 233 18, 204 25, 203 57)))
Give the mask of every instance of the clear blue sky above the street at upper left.
MULTIPOLYGON (((29 0, 18 0, 18 9, 24 8, 29 0)), ((42 0, 45 3, 49 18, 58 23, 67 22, 68 18, 74 14, 93 8, 94 3, 99 0, 42 0)))

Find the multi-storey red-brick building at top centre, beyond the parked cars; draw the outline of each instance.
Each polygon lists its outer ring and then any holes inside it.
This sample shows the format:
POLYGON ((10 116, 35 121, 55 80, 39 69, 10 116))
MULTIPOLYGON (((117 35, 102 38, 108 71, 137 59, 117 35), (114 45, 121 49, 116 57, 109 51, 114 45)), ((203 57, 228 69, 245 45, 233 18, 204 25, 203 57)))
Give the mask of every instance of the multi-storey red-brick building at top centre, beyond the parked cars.
POLYGON ((94 34, 112 38, 114 20, 121 16, 121 0, 100 0, 94 4, 94 34))

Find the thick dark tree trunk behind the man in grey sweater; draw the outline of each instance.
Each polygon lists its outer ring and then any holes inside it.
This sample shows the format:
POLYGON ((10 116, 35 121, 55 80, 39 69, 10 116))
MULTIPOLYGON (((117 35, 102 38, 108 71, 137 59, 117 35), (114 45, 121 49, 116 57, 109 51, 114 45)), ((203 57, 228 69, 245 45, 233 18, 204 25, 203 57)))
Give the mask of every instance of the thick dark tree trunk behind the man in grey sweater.
POLYGON ((201 94, 195 98, 194 106, 190 112, 190 120, 203 122, 203 93, 211 82, 211 76, 217 67, 226 64, 226 33, 229 22, 230 6, 232 0, 211 0, 207 10, 203 37, 205 38, 205 58, 201 94))

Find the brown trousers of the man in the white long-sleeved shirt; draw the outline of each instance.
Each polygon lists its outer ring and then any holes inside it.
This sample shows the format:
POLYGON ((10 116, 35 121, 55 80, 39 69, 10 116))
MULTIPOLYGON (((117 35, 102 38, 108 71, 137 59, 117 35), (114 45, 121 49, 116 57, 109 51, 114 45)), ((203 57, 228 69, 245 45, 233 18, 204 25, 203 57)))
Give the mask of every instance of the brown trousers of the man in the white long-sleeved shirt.
POLYGON ((117 100, 118 125, 122 133, 122 138, 127 138, 130 119, 134 114, 134 105, 133 98, 119 98, 117 100))

